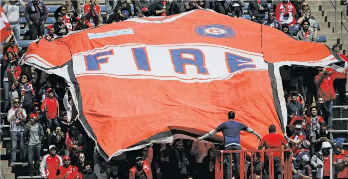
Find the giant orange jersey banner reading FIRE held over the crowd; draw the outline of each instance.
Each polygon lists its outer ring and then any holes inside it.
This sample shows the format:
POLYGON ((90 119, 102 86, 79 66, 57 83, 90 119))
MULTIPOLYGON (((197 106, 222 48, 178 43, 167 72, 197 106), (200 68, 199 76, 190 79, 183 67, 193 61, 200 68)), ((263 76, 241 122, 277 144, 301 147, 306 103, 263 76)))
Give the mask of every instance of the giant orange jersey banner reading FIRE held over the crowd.
MULTIPOLYGON (((68 81, 84 129, 111 158, 150 142, 196 139, 226 121, 229 111, 262 137, 270 124, 282 134, 287 114, 279 68, 342 60, 323 44, 192 10, 41 39, 30 44, 24 61, 68 81)), ((258 144, 241 133, 243 149, 258 144)))

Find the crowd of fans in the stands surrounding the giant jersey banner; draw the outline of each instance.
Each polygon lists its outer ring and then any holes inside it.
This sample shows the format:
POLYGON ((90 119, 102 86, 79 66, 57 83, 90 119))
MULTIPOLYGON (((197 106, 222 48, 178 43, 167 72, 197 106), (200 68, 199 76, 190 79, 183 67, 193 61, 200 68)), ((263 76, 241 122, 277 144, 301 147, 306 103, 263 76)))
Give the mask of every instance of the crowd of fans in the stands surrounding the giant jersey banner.
MULTIPOLYGON (((243 0, 132 2, 134 12, 126 0, 106 0, 106 23, 123 21, 132 16, 167 16, 192 9, 211 9, 240 18, 242 7, 245 6, 243 0)), ((65 80, 30 66, 18 66, 18 59, 25 50, 16 43, 20 40, 20 8, 25 9, 25 28, 29 30, 30 39, 53 41, 71 31, 102 25, 98 1, 86 0, 80 12, 80 0, 67 0, 55 10, 56 23, 46 27, 46 34, 44 24, 48 12, 43 1, 31 0, 25 4, 22 0, 8 0, 1 5, 12 28, 11 35, 1 48, 4 54, 1 59, 1 85, 4 89, 4 108, 8 111, 7 121, 10 123, 11 167, 18 161, 16 149, 20 149, 20 161, 28 162, 29 176, 40 175, 45 179, 213 179, 215 150, 240 150, 240 131, 252 133, 261 140, 262 137, 252 129, 232 122, 235 114, 229 113, 228 123, 198 138, 198 142, 178 139, 170 144, 155 144, 141 151, 124 153, 117 159, 123 163, 105 162, 77 120, 78 112, 65 80), (76 10, 71 10, 72 7, 76 10), (235 127, 232 131, 231 126, 235 127), (224 144, 216 145, 199 142, 220 131, 232 136, 232 140, 225 139, 224 144), (17 144, 20 146, 17 147, 17 144), (48 149, 48 154, 41 159, 43 149, 48 149), (90 161, 85 160, 85 154, 90 161)), ((269 7, 266 0, 249 0, 248 14, 252 21, 296 35, 298 40, 315 42, 317 39, 317 23, 307 1, 273 0, 269 7), (294 34, 296 23, 301 24, 301 30, 294 34)), ((340 53, 338 44, 333 46, 333 50, 348 61, 340 53)), ((340 103, 347 105, 346 73, 329 68, 287 66, 280 71, 287 100, 287 130, 284 137, 275 136, 275 127, 271 125, 270 134, 262 138, 259 149, 281 149, 282 146, 292 149, 295 179, 311 179, 312 169, 317 171, 317 178, 326 179, 330 176, 328 149, 334 146, 336 176, 347 179, 348 152, 343 150, 342 143, 348 140, 334 139, 330 132, 333 128, 335 89, 339 92, 340 103), (315 105, 312 106, 313 98, 315 105)), ((268 159, 268 156, 257 156, 257 160, 253 161, 254 174, 251 174, 251 165, 246 172, 248 178, 260 178, 261 175, 267 178, 268 159)), ((233 157, 233 161, 239 161, 239 158, 233 157)), ((237 173, 228 174, 227 170, 226 175, 239 179, 239 165, 236 163, 234 166, 227 164, 226 168, 233 167, 237 173)), ((281 172, 280 163, 279 155, 275 154, 274 172, 277 178, 281 172)))

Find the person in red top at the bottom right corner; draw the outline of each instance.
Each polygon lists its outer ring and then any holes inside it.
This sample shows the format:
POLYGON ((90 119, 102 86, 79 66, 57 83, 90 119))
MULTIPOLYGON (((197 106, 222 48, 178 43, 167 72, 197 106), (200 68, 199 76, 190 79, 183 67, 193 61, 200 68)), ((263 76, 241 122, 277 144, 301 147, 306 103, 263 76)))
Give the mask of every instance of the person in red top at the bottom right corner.
POLYGON ((348 179, 348 151, 343 150, 343 144, 335 144, 334 166, 336 167, 337 179, 348 179))

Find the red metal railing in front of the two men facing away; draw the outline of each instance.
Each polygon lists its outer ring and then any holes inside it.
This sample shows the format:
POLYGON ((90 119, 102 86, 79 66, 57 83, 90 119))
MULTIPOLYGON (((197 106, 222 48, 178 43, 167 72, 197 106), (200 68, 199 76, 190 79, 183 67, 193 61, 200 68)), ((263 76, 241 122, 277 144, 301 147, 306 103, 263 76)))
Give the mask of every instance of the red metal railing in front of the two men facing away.
MULTIPOLYGON (((224 161, 224 157, 226 159, 229 156, 229 164, 230 164, 230 174, 232 176, 232 159, 235 155, 239 154, 239 178, 247 179, 250 175, 252 176, 260 175, 260 179, 264 177, 269 177, 269 179, 275 179, 275 176, 281 175, 281 179, 292 179, 292 155, 290 149, 282 149, 282 150, 241 150, 241 151, 215 151, 215 179, 224 179, 224 164, 228 163, 224 161), (278 153, 277 158, 280 159, 280 169, 278 171, 274 171, 274 157, 278 153), (280 155, 280 156, 279 156, 280 155), (259 171, 260 174, 254 171, 254 166, 258 166, 257 164, 261 164, 263 161, 269 159, 269 176, 262 176, 263 174, 263 166, 260 165, 259 171), (250 162, 249 167, 247 169, 246 161, 250 162)), ((268 162, 268 161, 267 161, 268 162)), ((236 165, 236 164, 234 164, 236 165)), ((265 164, 266 165, 266 164, 265 164)), ((266 167, 266 166, 264 166, 266 167)), ((255 167, 256 168, 256 167, 255 167)), ((256 168, 256 169, 258 169, 256 168)), ((227 171, 225 171, 227 172, 227 171)))

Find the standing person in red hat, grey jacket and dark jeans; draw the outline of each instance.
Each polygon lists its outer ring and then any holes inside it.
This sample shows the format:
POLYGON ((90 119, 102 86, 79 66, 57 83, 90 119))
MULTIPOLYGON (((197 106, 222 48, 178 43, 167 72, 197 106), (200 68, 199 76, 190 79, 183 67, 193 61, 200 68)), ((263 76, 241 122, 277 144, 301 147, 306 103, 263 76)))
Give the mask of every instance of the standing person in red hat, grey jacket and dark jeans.
POLYGON ((26 144, 27 157, 28 157, 28 173, 29 176, 37 175, 39 171, 40 150, 43 139, 43 127, 40 123, 36 123, 36 114, 30 114, 29 122, 24 126, 24 138, 28 138, 26 144), (35 164, 33 165, 32 159, 34 158, 35 164), (35 168, 34 168, 35 166, 35 168))

